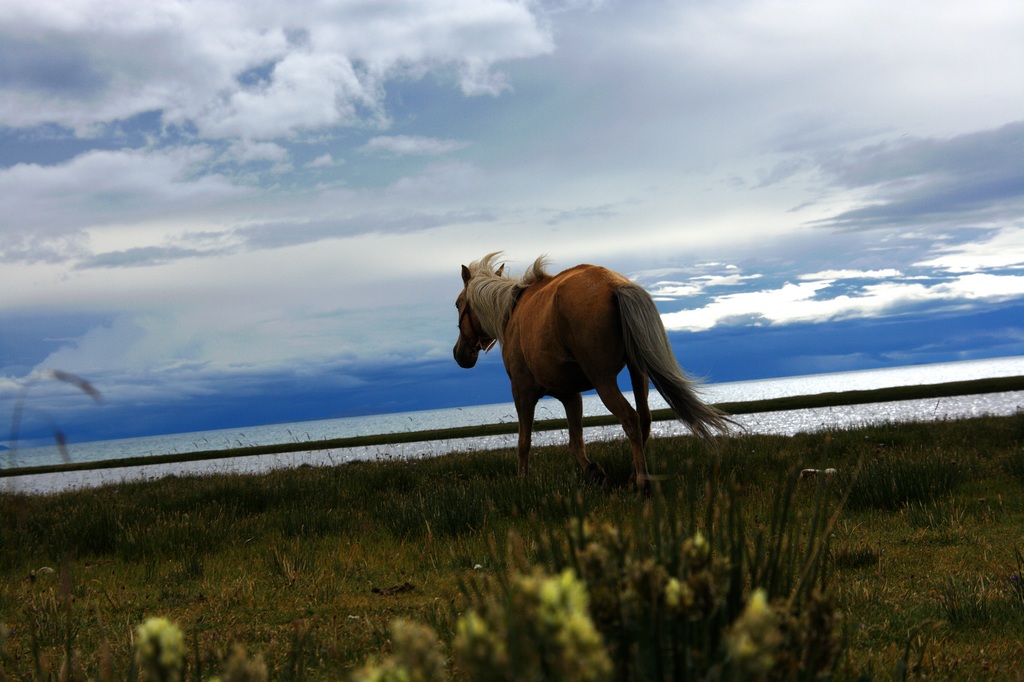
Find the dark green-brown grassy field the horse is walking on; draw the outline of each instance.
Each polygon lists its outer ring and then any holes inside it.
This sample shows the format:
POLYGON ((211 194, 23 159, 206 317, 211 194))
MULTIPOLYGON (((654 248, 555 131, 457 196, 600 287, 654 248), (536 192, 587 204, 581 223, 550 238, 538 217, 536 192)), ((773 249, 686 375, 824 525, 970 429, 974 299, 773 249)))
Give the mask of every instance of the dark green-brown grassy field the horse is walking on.
POLYGON ((621 678, 679 674, 674 642, 737 674, 757 588, 778 614, 763 642, 773 676, 807 677, 807 652, 835 647, 839 679, 1020 678, 1024 414, 735 436, 718 452, 655 439, 652 499, 629 486, 624 442, 590 450, 607 488, 553 446, 527 480, 500 451, 0 494, 0 680, 134 676, 135 629, 155 615, 184 633, 186 679, 230 677, 236 644, 270 679, 348 679, 400 652, 395 620, 436 632, 458 678, 484 665, 456 655, 467 609, 525 636, 509 576, 564 568, 587 583, 621 678), (670 612, 680 583, 702 611, 670 612), (648 584, 662 601, 623 597, 648 584), (783 667, 793 651, 803 663, 783 667))

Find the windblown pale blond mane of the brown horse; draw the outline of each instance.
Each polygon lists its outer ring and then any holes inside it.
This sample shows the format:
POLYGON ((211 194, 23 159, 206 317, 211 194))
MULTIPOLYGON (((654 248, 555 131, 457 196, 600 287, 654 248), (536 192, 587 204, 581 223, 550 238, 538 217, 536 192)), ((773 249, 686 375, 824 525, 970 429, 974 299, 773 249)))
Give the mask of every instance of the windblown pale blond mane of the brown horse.
POLYGON ((496 271, 494 261, 500 255, 500 251, 488 253, 466 266, 470 273, 466 298, 483 331, 498 339, 499 343, 504 343, 505 325, 519 300, 519 294, 523 289, 550 275, 544 269, 548 263, 546 256, 535 260, 521 278, 505 274, 504 266, 496 271))

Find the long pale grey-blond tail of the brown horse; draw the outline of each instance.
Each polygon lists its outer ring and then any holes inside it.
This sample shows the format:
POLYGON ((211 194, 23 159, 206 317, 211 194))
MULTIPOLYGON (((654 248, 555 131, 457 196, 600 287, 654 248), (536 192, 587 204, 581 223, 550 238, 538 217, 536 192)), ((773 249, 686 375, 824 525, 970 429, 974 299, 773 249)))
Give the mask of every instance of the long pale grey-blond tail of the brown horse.
POLYGON ((715 431, 728 432, 729 424, 735 422, 697 396, 696 382, 679 367, 650 294, 631 283, 617 289, 615 298, 623 321, 627 363, 650 377, 657 392, 695 434, 711 440, 715 431))

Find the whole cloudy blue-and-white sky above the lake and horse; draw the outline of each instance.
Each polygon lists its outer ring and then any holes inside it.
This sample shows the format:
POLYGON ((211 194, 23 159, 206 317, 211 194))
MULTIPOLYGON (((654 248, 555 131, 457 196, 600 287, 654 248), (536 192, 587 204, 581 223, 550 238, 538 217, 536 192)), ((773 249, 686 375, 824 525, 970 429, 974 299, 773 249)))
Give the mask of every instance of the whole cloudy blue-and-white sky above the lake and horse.
POLYGON ((1017 0, 7 0, 0 429, 507 401, 452 358, 492 251, 637 281, 709 382, 1024 354, 1021 36, 1017 0))

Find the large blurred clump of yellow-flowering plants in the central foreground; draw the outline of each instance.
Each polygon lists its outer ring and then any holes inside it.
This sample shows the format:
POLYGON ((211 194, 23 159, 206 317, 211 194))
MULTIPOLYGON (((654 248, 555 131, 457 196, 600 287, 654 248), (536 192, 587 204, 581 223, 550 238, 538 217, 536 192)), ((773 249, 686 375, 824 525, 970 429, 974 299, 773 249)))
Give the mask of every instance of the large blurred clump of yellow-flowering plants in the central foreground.
MULTIPOLYGON (((463 584, 456 669, 470 680, 829 674, 843 649, 826 589, 835 517, 827 518, 823 484, 812 517, 793 515, 796 481, 780 481, 779 503, 753 537, 739 488, 720 493, 714 482, 699 496, 691 486, 685 500, 656 495, 632 525, 581 513, 560 530, 537 524, 529 542, 513 535, 509 572, 473 574, 463 584)), ((564 500, 549 504, 580 509, 564 500)), ((434 637, 430 629, 418 635, 434 637)), ((446 679, 437 667, 430 675, 409 668, 408 657, 396 639, 395 655, 372 662, 356 679, 446 679)))

